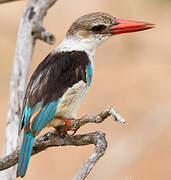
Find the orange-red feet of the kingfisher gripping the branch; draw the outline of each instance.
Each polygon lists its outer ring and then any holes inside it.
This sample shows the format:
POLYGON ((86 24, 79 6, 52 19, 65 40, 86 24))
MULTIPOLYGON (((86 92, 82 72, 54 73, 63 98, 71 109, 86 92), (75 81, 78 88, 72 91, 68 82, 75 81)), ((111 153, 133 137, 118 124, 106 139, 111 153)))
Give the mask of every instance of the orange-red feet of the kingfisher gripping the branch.
POLYGON ((64 131, 63 133, 60 131, 60 126, 54 127, 55 130, 56 130, 56 132, 57 132, 57 134, 58 134, 58 136, 60 136, 60 137, 65 137, 65 135, 67 134, 67 131, 69 130, 69 123, 70 123, 72 120, 74 120, 74 119, 65 119, 65 118, 63 118, 63 117, 58 117, 58 116, 56 116, 55 118, 56 118, 56 119, 60 119, 60 120, 62 120, 62 121, 65 122, 65 131, 64 131), (61 133, 62 133, 62 134, 61 134, 61 133))

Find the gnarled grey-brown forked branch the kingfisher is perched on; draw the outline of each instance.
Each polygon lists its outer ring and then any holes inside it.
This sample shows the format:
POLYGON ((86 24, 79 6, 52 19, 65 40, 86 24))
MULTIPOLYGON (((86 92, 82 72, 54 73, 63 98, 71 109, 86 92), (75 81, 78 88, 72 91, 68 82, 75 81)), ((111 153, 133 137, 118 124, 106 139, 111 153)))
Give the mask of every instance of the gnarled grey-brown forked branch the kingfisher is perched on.
MULTIPOLYGON (((80 119, 73 120, 69 125, 70 131, 77 131, 81 126, 86 123, 101 123, 107 117, 113 116, 116 121, 125 123, 125 120, 116 111, 110 107, 102 111, 96 116, 84 116, 80 119)), ((101 156, 104 155, 107 148, 107 141, 105 139, 105 134, 101 132, 94 132, 83 135, 67 135, 65 138, 60 138, 57 136, 55 131, 46 133, 45 135, 39 137, 33 146, 32 155, 37 154, 49 147, 54 146, 83 146, 88 144, 94 144, 95 149, 93 154, 81 167, 78 174, 74 177, 74 180, 83 180, 90 173, 91 169, 97 163, 101 156)), ((10 155, 0 159, 0 171, 14 166, 18 162, 20 150, 16 150, 10 155)))

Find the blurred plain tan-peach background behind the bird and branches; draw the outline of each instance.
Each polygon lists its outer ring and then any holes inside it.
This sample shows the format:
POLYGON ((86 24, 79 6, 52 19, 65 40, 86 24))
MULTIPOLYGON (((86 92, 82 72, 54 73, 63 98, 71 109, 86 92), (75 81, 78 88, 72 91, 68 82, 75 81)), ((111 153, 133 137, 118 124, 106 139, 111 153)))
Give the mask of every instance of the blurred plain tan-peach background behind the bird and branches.
MULTIPOLYGON (((25 1, 0 6, 0 155, 17 30, 25 6, 25 1)), ((108 140, 105 155, 87 180, 170 180, 170 0, 60 0, 44 21, 56 35, 56 43, 50 46, 37 41, 30 74, 63 40, 76 18, 95 11, 151 22, 156 28, 115 36, 97 50, 93 83, 78 117, 97 114, 112 105, 127 125, 108 118, 101 124, 85 125, 77 132, 102 131, 108 140)), ((49 148, 31 158, 25 180, 70 180, 92 151, 93 145, 49 148)))

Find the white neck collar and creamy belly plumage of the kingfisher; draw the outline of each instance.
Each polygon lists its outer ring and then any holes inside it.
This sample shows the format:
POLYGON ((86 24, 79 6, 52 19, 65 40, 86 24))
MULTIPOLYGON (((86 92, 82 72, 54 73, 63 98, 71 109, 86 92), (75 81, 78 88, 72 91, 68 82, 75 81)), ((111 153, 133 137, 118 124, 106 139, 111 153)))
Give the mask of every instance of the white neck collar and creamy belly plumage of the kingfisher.
MULTIPOLYGON (((94 56, 96 52, 96 46, 89 39, 80 40, 75 38, 65 38, 64 41, 54 49, 52 53, 58 51, 85 51, 91 61, 92 70, 94 70, 94 56)), ((56 116, 61 116, 66 119, 76 118, 76 112, 84 100, 88 92, 88 85, 80 81, 72 88, 69 88, 61 98, 56 111, 56 116)), ((59 119, 53 119, 48 126, 61 126, 64 125, 64 121, 59 119)))

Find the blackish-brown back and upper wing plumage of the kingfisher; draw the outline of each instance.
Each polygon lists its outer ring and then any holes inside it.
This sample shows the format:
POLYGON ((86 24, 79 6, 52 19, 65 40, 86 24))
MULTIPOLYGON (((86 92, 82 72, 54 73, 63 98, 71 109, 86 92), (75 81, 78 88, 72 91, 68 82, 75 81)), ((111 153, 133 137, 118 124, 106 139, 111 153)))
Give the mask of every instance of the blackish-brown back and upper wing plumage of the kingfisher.
POLYGON ((90 61, 83 51, 50 53, 38 65, 27 86, 20 129, 37 109, 57 101, 69 87, 80 80, 87 83, 87 65, 90 65, 90 61), (26 119, 29 108, 30 117, 26 119))

